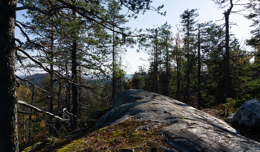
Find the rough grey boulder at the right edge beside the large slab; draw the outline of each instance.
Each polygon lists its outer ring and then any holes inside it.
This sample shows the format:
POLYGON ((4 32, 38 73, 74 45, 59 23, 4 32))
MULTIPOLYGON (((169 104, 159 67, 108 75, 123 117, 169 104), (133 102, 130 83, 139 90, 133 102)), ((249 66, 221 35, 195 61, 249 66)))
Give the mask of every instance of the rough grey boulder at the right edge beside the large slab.
POLYGON ((243 124, 248 128, 260 128, 260 101, 257 99, 245 101, 226 121, 229 123, 236 121, 239 125, 243 124))

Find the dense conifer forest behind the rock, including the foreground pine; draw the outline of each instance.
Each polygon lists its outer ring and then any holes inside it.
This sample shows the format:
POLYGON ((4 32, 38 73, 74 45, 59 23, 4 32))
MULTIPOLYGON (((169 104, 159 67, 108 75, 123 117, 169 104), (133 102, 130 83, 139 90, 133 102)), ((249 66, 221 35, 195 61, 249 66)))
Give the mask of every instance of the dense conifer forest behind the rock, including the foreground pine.
POLYGON ((91 127, 127 89, 148 90, 197 109, 215 108, 225 116, 246 100, 260 99, 260 2, 212 1, 225 9, 222 25, 200 23, 192 8, 183 10, 176 27, 165 22, 134 31, 125 24, 150 11, 163 17, 164 5, 153 6, 151 0, 1 1, 0 151, 19 151, 18 142, 24 148, 38 134, 61 137, 91 127), (25 22, 16 19, 20 10, 26 11, 25 22), (253 21, 245 44, 230 32, 233 13, 253 21), (122 56, 129 48, 147 53, 149 66, 140 65, 126 77, 122 56))

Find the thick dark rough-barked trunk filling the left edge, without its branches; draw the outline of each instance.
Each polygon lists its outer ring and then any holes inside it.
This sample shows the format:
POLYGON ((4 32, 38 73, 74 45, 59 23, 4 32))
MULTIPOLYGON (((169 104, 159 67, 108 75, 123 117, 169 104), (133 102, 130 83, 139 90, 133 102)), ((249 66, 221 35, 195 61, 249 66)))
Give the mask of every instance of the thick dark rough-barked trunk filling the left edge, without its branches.
POLYGON ((17 99, 15 85, 15 19, 16 0, 0 0, 0 151, 16 152, 17 99))

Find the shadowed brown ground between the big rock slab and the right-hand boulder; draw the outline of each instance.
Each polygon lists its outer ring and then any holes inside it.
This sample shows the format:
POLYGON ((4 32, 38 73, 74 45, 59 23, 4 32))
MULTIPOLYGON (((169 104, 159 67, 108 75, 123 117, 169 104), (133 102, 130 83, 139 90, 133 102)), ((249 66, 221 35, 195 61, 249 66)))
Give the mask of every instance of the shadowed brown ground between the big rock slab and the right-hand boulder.
MULTIPOLYGON (((215 109, 203 109, 201 110, 207 114, 212 115, 213 117, 216 117, 218 119, 225 121, 225 115, 222 112, 219 112, 219 110, 215 110, 215 109)), ((258 129, 251 129, 249 130, 248 128, 246 128, 245 126, 239 126, 238 123, 232 123, 229 124, 228 122, 226 122, 228 125, 230 125, 232 128, 236 129, 237 131, 239 131, 239 135, 244 136, 246 138, 252 139, 254 141, 257 141, 260 143, 260 130, 258 129)))

